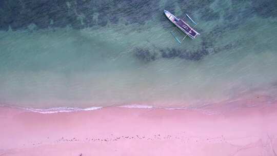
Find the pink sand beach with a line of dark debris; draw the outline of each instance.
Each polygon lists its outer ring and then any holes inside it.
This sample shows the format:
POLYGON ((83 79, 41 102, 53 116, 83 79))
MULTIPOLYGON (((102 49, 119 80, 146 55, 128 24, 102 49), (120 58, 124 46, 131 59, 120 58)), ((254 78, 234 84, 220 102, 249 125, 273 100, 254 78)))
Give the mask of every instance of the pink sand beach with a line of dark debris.
POLYGON ((276 155, 276 121, 275 104, 217 114, 119 107, 42 114, 1 107, 0 155, 276 155))

